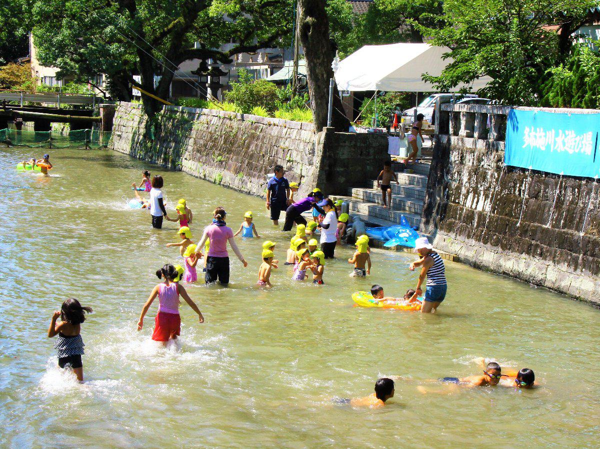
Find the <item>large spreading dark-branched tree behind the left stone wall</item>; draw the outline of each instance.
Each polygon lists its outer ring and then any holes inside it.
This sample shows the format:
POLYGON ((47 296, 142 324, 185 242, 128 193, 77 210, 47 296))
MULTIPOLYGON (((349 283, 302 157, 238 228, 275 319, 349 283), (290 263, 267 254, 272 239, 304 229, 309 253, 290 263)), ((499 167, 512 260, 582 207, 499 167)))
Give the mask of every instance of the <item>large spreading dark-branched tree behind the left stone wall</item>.
MULTIPOLYGON (((130 98, 131 85, 167 98, 184 61, 228 63, 238 53, 281 46, 291 11, 291 0, 38 0, 34 38, 40 61, 61 76, 105 73, 118 99, 130 98)), ((149 116, 160 110, 153 98, 142 100, 149 116)))

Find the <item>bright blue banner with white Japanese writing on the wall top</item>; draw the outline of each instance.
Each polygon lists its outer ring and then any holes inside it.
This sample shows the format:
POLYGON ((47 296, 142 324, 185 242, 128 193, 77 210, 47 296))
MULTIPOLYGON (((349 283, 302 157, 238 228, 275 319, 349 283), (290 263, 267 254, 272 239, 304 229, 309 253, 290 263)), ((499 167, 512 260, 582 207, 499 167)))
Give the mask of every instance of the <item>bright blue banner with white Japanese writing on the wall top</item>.
POLYGON ((600 177, 598 114, 512 109, 504 163, 567 176, 600 177))

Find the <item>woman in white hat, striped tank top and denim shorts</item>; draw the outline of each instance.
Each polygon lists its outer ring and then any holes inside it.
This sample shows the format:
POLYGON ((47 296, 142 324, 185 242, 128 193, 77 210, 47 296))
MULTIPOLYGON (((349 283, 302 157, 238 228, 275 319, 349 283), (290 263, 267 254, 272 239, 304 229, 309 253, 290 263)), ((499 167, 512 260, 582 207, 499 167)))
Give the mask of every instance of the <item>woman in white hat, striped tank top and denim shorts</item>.
POLYGON ((423 302, 421 312, 429 314, 430 312, 435 312, 437 306, 446 297, 448 284, 446 283, 444 261, 437 252, 433 251, 433 246, 429 243, 427 237, 416 239, 415 249, 421 256, 421 259, 410 264, 410 270, 414 271, 416 267, 421 267, 419 282, 417 282, 415 289, 418 296, 423 294, 421 285, 425 281, 425 278, 427 278, 425 301, 423 302))

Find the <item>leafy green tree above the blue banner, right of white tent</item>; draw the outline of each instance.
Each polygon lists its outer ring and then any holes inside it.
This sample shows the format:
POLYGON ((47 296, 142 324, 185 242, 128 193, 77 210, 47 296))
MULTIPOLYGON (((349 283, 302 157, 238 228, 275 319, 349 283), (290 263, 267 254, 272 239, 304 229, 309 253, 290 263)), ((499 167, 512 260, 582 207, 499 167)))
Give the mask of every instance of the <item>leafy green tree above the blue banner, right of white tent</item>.
POLYGON ((545 73, 569 56, 571 29, 595 4, 595 0, 445 0, 441 14, 427 17, 436 25, 417 28, 433 37, 434 44, 448 46, 454 61, 441 76, 425 79, 445 90, 488 75, 494 80, 481 94, 506 104, 536 105, 545 73))

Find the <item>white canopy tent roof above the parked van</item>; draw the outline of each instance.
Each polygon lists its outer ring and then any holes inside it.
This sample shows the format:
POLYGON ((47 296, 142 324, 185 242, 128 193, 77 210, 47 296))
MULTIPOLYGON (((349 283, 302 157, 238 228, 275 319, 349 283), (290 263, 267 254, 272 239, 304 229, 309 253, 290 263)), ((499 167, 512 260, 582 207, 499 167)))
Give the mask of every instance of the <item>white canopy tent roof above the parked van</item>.
MULTIPOLYGON (((435 91, 434 86, 422 80, 422 75, 439 76, 452 62, 452 58, 442 58, 449 51, 448 47, 430 44, 367 45, 334 64, 335 82, 340 91, 435 91)), ((477 91, 490 81, 490 77, 481 77, 449 92, 464 87, 477 91)))

